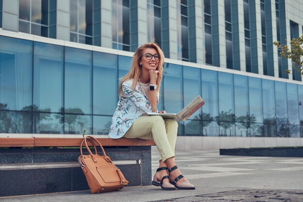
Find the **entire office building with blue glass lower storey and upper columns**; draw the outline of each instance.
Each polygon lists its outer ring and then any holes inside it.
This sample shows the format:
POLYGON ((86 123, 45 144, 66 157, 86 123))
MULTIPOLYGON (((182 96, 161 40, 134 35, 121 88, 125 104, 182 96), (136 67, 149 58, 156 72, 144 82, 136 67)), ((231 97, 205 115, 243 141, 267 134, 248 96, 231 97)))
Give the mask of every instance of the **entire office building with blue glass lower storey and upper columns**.
POLYGON ((285 0, 0 0, 0 133, 107 134, 119 78, 136 48, 155 42, 169 58, 158 109, 178 112, 197 95, 206 102, 179 122, 179 136, 303 137, 302 76, 285 73, 291 65, 273 46, 303 33, 291 17, 295 7, 285 0))

